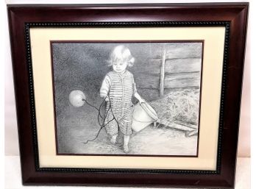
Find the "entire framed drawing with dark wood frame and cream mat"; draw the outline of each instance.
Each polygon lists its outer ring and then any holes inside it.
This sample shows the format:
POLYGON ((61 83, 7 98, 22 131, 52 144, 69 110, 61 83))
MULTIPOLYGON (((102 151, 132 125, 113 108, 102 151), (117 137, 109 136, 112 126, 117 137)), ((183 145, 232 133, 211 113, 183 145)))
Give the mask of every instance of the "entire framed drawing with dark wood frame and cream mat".
POLYGON ((234 188, 248 6, 8 5, 24 185, 234 188))

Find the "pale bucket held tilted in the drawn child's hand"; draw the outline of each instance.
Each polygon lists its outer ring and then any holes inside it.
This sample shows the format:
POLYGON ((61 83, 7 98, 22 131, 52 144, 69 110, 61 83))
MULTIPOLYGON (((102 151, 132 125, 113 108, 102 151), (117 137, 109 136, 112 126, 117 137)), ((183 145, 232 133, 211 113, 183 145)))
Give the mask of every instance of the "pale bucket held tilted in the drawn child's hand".
POLYGON ((138 103, 132 114, 132 130, 140 132, 146 126, 156 124, 157 120, 158 116, 153 107, 146 102, 138 103))

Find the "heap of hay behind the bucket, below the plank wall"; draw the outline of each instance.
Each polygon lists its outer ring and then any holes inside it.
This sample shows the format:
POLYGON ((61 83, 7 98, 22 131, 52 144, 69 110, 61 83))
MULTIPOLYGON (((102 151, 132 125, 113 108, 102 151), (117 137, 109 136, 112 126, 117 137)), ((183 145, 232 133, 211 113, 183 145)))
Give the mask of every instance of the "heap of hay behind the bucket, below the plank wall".
POLYGON ((163 99, 151 101, 161 121, 198 126, 199 89, 170 91, 163 99))

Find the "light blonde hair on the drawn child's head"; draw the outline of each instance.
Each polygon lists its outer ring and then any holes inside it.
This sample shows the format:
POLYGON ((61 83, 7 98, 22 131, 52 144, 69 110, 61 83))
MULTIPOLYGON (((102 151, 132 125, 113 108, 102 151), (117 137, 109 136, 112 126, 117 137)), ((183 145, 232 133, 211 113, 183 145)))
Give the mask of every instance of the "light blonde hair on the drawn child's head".
POLYGON ((128 66, 131 67, 135 63, 135 58, 132 57, 131 51, 126 46, 115 46, 110 54, 110 59, 107 60, 109 66, 118 61, 127 61, 128 66))

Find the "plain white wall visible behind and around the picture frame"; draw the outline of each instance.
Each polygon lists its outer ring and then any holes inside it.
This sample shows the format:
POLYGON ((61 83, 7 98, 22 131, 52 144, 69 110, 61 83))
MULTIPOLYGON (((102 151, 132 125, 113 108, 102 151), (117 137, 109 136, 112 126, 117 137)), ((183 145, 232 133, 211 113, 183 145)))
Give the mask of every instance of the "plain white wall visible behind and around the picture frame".
MULTIPOLYGON (((181 1, 163 1, 163 0, 131 0, 131 1, 100 1, 100 0, 90 0, 87 3, 181 3, 181 2, 213 2, 212 1, 193 1, 193 0, 181 0, 181 1)), ((222 2, 234 2, 234 1, 222 1, 222 2)), ((252 1, 250 1, 252 4, 252 1)), ((67 1, 57 1, 57 0, 7 0, 7 4, 82 4, 85 1, 82 0, 67 0, 67 1)), ((1 8, 1 10, 6 12, 6 8, 1 8)), ((252 14, 255 14, 255 10, 249 11, 249 26, 246 44, 246 58, 244 66, 244 76, 243 76, 243 96, 241 104, 241 125, 239 132, 239 143, 238 143, 238 157, 249 157, 250 156, 250 57, 251 57, 251 22, 252 14)), ((4 60, 4 134, 5 134, 5 154, 6 155, 18 155, 18 131, 16 126, 16 116, 15 116, 15 101, 14 101, 14 90, 13 90, 13 72, 12 63, 10 56, 10 43, 9 43, 9 33, 7 26, 7 13, 4 18, 4 49, 5 49, 5 60, 4 60)))

